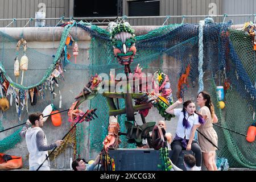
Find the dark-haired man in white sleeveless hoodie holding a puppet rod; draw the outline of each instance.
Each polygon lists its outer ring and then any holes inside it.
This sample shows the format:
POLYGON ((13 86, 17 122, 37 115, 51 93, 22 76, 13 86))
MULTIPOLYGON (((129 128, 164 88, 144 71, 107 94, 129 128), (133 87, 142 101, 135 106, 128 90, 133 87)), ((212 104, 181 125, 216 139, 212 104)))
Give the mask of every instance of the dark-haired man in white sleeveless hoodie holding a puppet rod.
MULTIPOLYGON (((27 149, 30 152, 29 165, 30 171, 38 169, 40 164, 46 160, 48 156, 48 150, 54 147, 60 146, 63 140, 57 140, 55 143, 47 144, 46 135, 41 129, 44 126, 43 114, 33 113, 28 116, 27 123, 23 126, 20 131, 20 137, 26 138, 27 149), (29 125, 32 127, 28 127, 29 125)), ((40 167, 39 171, 49 171, 49 159, 44 162, 43 166, 40 167)))

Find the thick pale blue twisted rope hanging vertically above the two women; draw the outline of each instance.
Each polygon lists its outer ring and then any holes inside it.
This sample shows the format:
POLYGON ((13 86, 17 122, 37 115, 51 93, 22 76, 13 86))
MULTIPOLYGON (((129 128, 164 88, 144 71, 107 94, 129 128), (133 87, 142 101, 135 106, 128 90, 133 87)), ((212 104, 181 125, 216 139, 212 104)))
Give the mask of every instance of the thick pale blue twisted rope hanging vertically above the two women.
POLYGON ((204 90, 204 82, 203 82, 203 64, 204 64, 204 44, 203 44, 203 27, 204 27, 204 20, 199 22, 199 53, 198 53, 198 71, 199 71, 199 90, 198 93, 204 90))

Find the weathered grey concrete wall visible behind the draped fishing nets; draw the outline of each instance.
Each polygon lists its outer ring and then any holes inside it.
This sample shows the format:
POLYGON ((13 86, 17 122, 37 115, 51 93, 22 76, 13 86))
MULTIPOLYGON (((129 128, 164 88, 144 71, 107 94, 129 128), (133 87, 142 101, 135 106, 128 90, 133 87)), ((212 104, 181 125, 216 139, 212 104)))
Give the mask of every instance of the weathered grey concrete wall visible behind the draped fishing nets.
MULTIPOLYGON (((55 43, 54 43, 55 49, 53 49, 53 43, 51 42, 52 32, 53 32, 52 28, 47 27, 48 31, 43 31, 43 28, 42 29, 38 28, 38 29, 36 29, 37 32, 35 32, 35 29, 23 28, 24 36, 26 36, 25 39, 29 40, 28 47, 36 49, 39 52, 46 53, 47 55, 52 55, 56 51, 56 48, 59 45, 58 40, 60 39, 60 36, 58 34, 61 34, 61 31, 59 31, 59 30, 55 31, 55 33, 56 33, 55 43), (40 30, 42 30, 42 31, 40 31, 40 30), (28 34, 28 32, 30 32, 31 34, 28 34), (33 36, 32 32, 34 32, 34 34, 37 34, 37 35, 33 36), (51 38, 49 38, 49 35, 51 36, 51 38), (30 36, 35 38, 35 40, 34 41, 31 40, 30 36)), ((142 27, 142 28, 144 28, 144 27, 142 27)), ((135 30, 137 31, 138 29, 135 28, 135 30)), ((2 31, 1 28, 0 28, 0 31, 2 31)), ((13 36, 15 36, 14 34, 19 36, 20 35, 19 31, 20 31, 19 28, 17 28, 17 29, 5 28, 5 32, 7 34, 10 33, 10 35, 13 35, 13 36)), ((137 33, 136 31, 135 31, 135 34, 137 33)), ((80 30, 79 30, 79 34, 77 34, 77 35, 79 36, 78 39, 80 40, 78 42, 79 56, 77 56, 77 64, 88 65, 90 62, 88 59, 88 49, 89 49, 89 45, 90 45, 90 40, 87 39, 88 34, 86 32, 80 32, 80 30)), ((15 49, 15 48, 13 48, 13 49, 15 49)), ((0 52, 2 52, 2 49, 0 49, 0 52)), ((68 49, 68 52, 72 53, 72 49, 68 49)), ((10 60, 13 61, 13 57, 11 57, 10 60)), ((71 59, 71 61, 73 61, 73 58, 71 59)), ((8 69, 10 69, 11 72, 13 73, 13 62, 11 62, 11 63, 12 64, 10 64, 10 68, 8 68, 8 69)), ((43 64, 44 63, 42 63, 42 65, 43 64)), ((39 70, 42 65, 38 65, 38 67, 36 67, 35 69, 39 70)), ((46 66, 46 65, 44 65, 44 66, 46 66)), ((48 65, 47 65, 47 67, 48 67, 48 65)), ((142 67, 143 67, 143 65, 142 65, 142 67)), ((158 68, 162 69, 162 71, 169 76, 170 81, 171 81, 172 92, 174 95, 174 100, 176 101, 177 100, 176 85, 177 85, 177 80, 179 79, 180 63, 178 63, 176 60, 172 59, 171 57, 164 57, 162 67, 160 67, 159 61, 156 61, 156 62, 152 63, 148 69, 143 69, 143 71, 146 73, 154 73, 155 71, 158 70, 158 68)), ((109 73, 109 71, 106 71, 106 73, 109 73)), ((28 76, 28 75, 26 75, 26 76, 28 76)), ((77 69, 75 67, 74 68, 67 67, 67 71, 64 73, 65 81, 59 82, 59 88, 60 88, 60 91, 61 91, 61 94, 63 97, 62 108, 59 110, 68 109, 69 106, 71 106, 72 102, 74 101, 75 96, 82 90, 83 86, 88 81, 88 77, 89 77, 88 69, 77 69)), ((38 80, 41 80, 41 78, 39 77, 38 80)), ((198 88, 197 85, 195 86, 195 88, 193 88, 191 85, 189 87, 189 89, 187 90, 185 100, 192 99, 195 101, 196 96, 197 96, 197 88, 198 88)), ((38 103, 35 106, 31 106, 30 104, 28 104, 29 112, 43 111, 44 107, 51 104, 51 96, 49 94, 49 91, 47 91, 46 93, 47 94, 46 94, 45 100, 38 97, 38 103)), ((59 107, 59 94, 56 96, 53 103, 56 105, 56 107, 59 107)), ((88 106, 89 106, 88 102, 85 102, 84 104, 82 104, 81 109, 86 110, 86 109, 88 109, 88 106)), ((45 125, 43 127, 43 130, 45 131, 45 133, 47 135, 48 143, 52 143, 52 142, 55 142, 55 140, 57 140, 57 139, 61 139, 65 135, 65 133, 67 133, 67 131, 69 129, 70 124, 68 122, 67 114, 61 114, 61 116, 62 116, 63 124, 60 127, 53 126, 51 123, 51 119, 48 119, 48 121, 45 123, 45 125)), ((1 117, 2 117, 2 114, 1 114, 1 117)), ((22 119, 27 119, 27 117, 28 117, 28 114, 26 113, 26 109, 24 109, 22 111, 22 119)), ((15 105, 13 102, 13 106, 11 106, 10 109, 4 113, 4 117, 1 118, 3 127, 5 127, 5 129, 7 129, 8 127, 18 124, 17 118, 18 118, 18 116, 17 116, 15 105)), ((141 118, 139 117, 138 114, 136 115, 136 119, 137 119, 138 124, 142 124, 141 118)), ((150 113, 146 117, 147 122, 159 121, 162 119, 163 118, 160 117, 160 115, 158 114, 158 110, 156 110, 155 108, 152 108, 150 110, 150 113)), ((79 125, 88 125, 88 123, 82 123, 79 125)), ((170 131, 172 133, 172 135, 175 135, 176 125, 177 125, 177 118, 171 119, 170 122, 167 122, 167 131, 170 131)), ((2 140, 3 138, 9 136, 10 134, 12 134, 14 132, 14 130, 15 129, 6 131, 4 133, 0 133, 0 139, 2 140)), ((91 160, 91 159, 94 159, 94 157, 97 154, 89 155, 88 135, 89 134, 86 133, 85 143, 83 144, 84 151, 83 151, 82 156, 86 160, 91 160), (89 156, 91 156, 91 158, 89 158, 89 156)), ((14 148, 6 151, 5 153, 9 154, 9 155, 22 156, 24 167, 25 168, 28 167, 28 158, 27 158, 28 151, 27 151, 26 142, 24 139, 22 140, 22 142, 16 144, 16 146, 14 148)), ((65 152, 63 152, 63 154, 58 156, 56 158, 55 162, 51 162, 52 168, 69 168, 69 158, 71 158, 71 157, 73 157, 73 148, 72 148, 72 146, 68 146, 67 150, 65 150, 65 152)))

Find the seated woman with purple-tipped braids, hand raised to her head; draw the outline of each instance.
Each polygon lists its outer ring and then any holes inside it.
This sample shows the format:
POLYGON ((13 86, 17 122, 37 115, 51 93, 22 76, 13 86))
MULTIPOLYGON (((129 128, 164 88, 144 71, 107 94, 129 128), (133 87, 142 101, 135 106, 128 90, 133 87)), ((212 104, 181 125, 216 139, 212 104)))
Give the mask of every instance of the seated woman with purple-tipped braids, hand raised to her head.
POLYGON ((176 136, 171 143, 173 150, 171 160, 176 165, 181 150, 192 150, 195 153, 196 166, 200 168, 202 162, 201 148, 193 138, 195 137, 196 129, 204 121, 199 114, 196 114, 196 106, 192 101, 185 101, 182 109, 174 109, 179 104, 182 104, 181 98, 166 109, 166 113, 179 117, 176 136))

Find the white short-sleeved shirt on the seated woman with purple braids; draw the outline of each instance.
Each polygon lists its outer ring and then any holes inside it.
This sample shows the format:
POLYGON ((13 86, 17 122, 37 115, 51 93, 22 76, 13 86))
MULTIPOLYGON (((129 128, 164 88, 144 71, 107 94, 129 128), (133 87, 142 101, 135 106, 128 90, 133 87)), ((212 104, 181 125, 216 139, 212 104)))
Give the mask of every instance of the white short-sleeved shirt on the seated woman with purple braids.
POLYGON ((189 140, 193 125, 200 125, 199 116, 195 113, 188 117, 188 113, 186 112, 185 117, 188 118, 189 127, 185 129, 185 127, 183 126, 184 114, 181 111, 182 109, 174 109, 174 115, 179 117, 176 135, 180 138, 184 138, 186 133, 186 139, 189 140))

